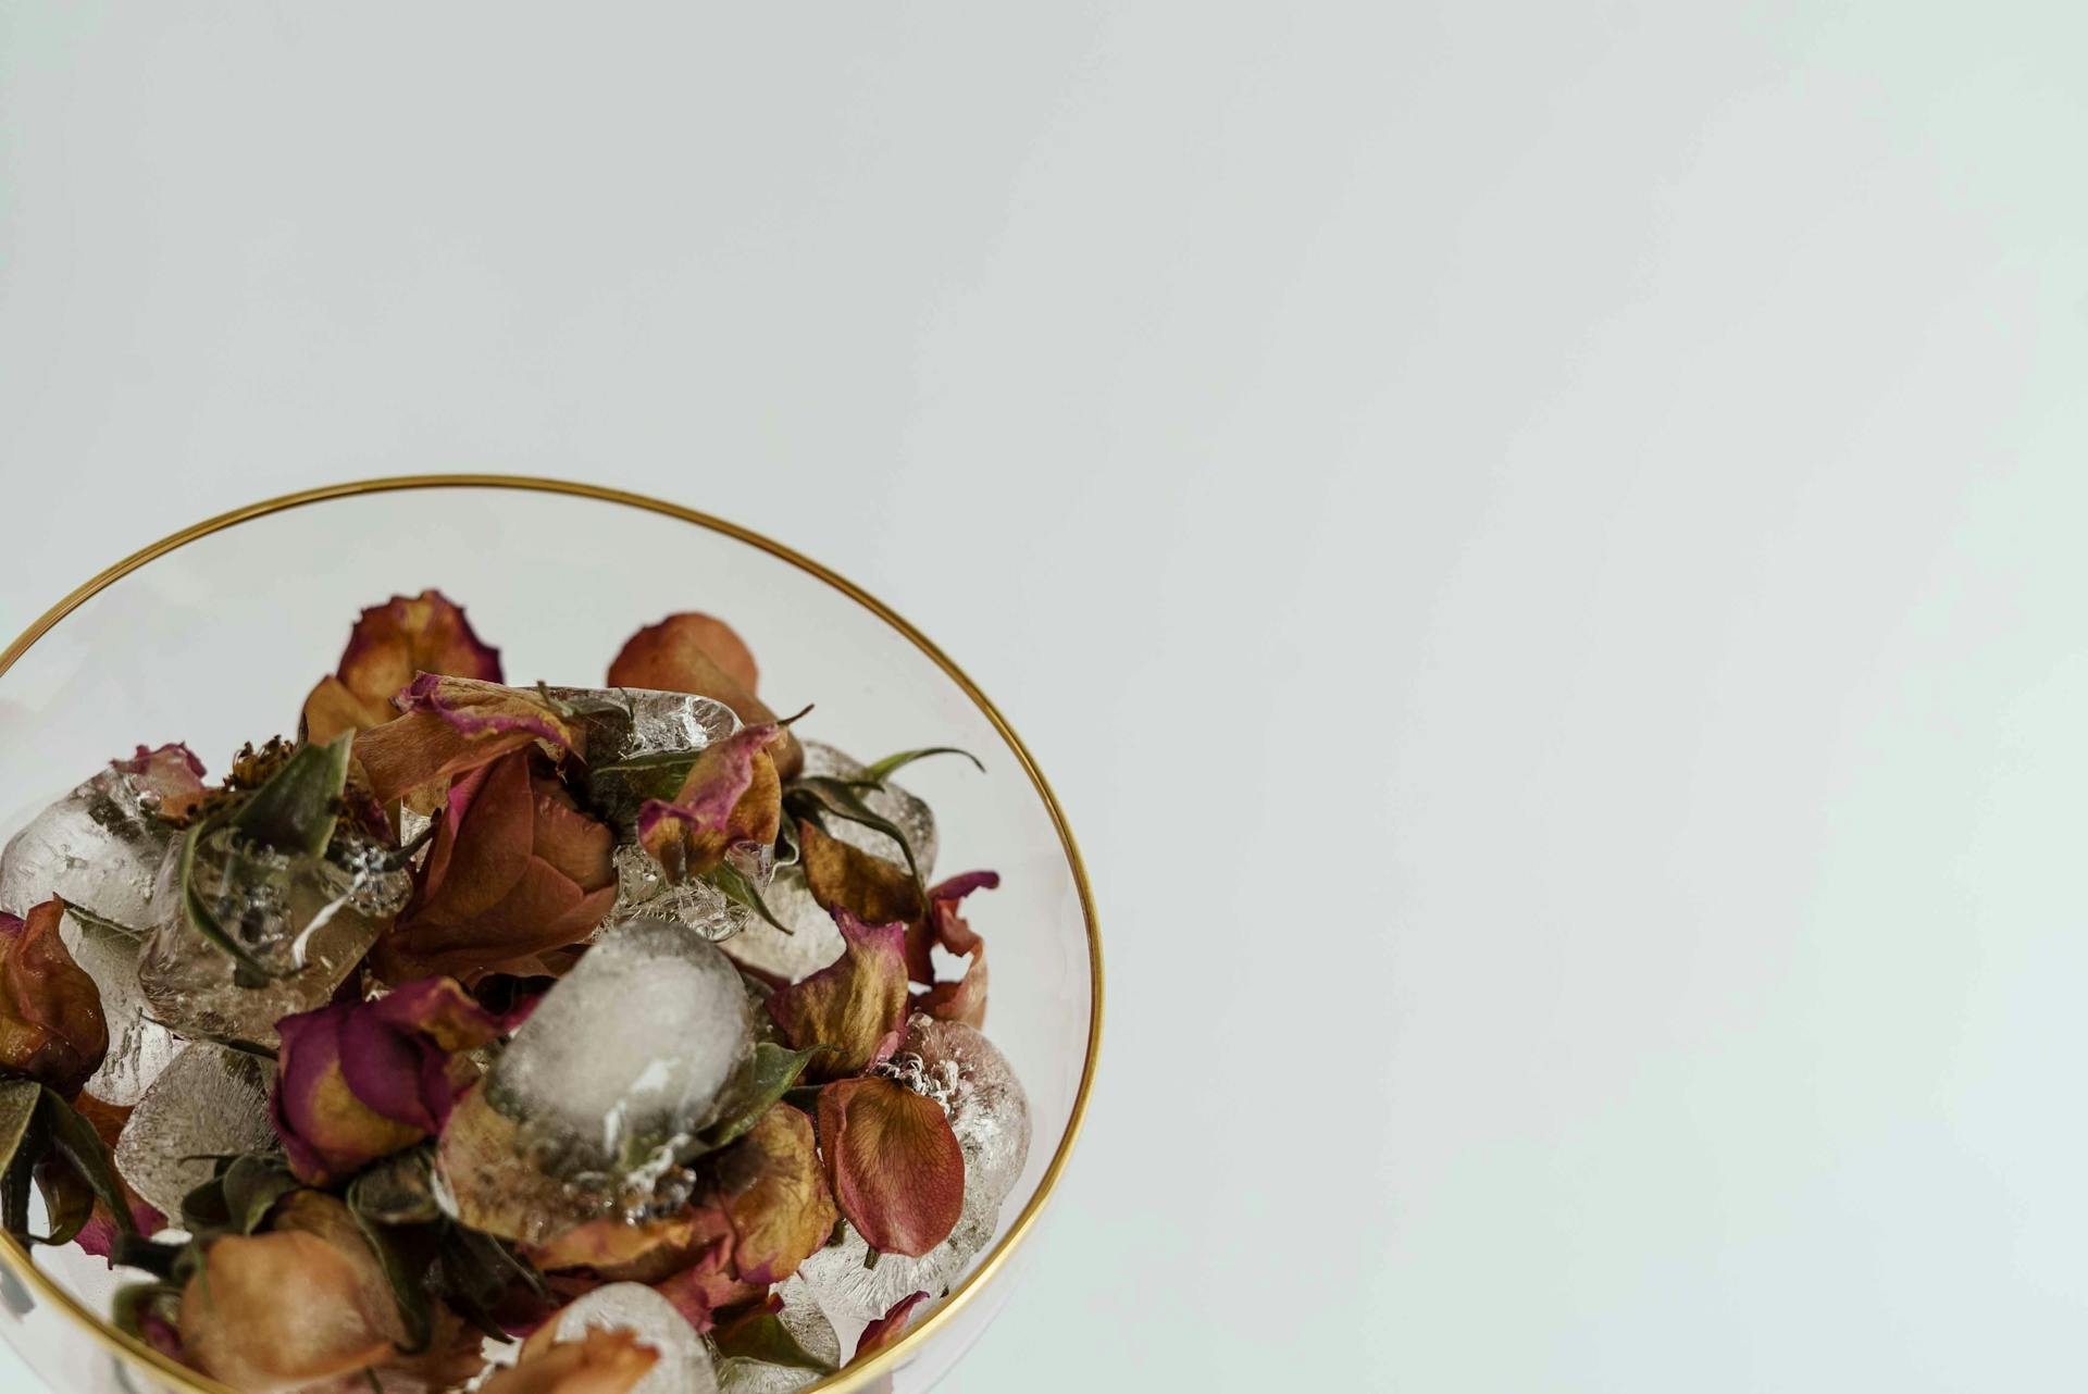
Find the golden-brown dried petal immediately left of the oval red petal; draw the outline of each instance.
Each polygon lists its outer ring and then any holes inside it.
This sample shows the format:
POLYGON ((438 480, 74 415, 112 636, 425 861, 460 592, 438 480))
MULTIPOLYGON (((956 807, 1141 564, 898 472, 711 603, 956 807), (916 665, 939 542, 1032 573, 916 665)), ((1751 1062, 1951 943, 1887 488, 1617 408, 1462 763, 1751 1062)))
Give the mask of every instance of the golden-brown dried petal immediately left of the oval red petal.
POLYGON ((725 1212, 737 1244, 733 1267, 756 1288, 781 1283, 825 1248, 837 1219, 821 1173, 812 1121, 787 1104, 760 1116, 718 1162, 725 1212))

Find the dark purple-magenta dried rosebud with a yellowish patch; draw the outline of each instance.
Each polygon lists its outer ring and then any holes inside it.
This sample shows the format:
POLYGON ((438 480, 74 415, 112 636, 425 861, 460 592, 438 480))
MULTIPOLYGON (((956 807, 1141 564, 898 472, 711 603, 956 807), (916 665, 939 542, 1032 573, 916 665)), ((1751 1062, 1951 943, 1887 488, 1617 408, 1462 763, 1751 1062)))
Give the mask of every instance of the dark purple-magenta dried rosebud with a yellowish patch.
POLYGON ((426 979, 276 1031, 276 1133, 299 1179, 330 1185, 438 1133, 455 1102, 451 1056, 495 1039, 499 1023, 451 979, 426 979))

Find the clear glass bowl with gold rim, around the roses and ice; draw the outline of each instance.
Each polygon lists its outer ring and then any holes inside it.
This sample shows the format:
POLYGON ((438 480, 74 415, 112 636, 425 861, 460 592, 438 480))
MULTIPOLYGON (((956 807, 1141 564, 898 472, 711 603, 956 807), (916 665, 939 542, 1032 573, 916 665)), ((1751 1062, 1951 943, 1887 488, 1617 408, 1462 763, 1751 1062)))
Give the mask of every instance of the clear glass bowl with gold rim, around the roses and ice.
MULTIPOLYGON (((938 814, 948 870, 990 866, 988 1031, 1029 1093, 1034 1139, 971 1273, 879 1356, 818 1390, 927 1390, 1009 1296, 1094 1077, 1100 945, 1079 851, 994 705, 912 626, 816 561, 716 518, 585 484, 501 476, 370 480, 186 528, 79 586, 0 653, 0 837, 140 741, 186 741, 223 772, 246 739, 294 730, 355 614, 438 586, 501 647, 509 682, 599 682, 637 626, 731 620, 779 710, 858 755, 960 745, 906 783, 938 814)), ((0 1237, 0 1333, 69 1394, 223 1394, 109 1325, 119 1283, 77 1248, 0 1237)))

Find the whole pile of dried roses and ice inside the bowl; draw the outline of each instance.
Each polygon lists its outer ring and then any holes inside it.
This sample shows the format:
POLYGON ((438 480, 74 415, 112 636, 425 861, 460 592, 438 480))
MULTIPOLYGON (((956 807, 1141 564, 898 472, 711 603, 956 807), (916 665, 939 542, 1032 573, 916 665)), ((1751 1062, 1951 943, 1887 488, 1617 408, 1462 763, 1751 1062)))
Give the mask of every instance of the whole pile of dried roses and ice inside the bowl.
POLYGON ((960 914, 998 876, 927 881, 889 776, 948 751, 856 766, 758 687, 702 614, 509 687, 424 591, 217 787, 113 762, 0 862, 0 1189, 257 1394, 787 1390, 889 1346, 1027 1150, 960 914), (487 1333, 528 1340, 489 1371, 487 1333))

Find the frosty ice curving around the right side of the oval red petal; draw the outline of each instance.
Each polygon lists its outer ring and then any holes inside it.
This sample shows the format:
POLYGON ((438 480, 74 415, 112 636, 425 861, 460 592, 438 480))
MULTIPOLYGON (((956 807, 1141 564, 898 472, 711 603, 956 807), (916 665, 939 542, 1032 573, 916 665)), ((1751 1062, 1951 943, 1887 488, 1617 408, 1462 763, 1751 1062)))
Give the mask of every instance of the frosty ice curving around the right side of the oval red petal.
POLYGON ((841 1223, 831 1244, 798 1267, 798 1275, 837 1321, 875 1321, 900 1298, 942 1296, 965 1275, 1000 1229, 1000 1204, 1029 1158, 1029 1098, 1000 1050, 963 1023, 915 1014, 885 1075, 935 1098, 965 1154, 965 1208, 956 1229, 919 1258, 883 1254, 864 1267, 869 1244, 841 1223))

